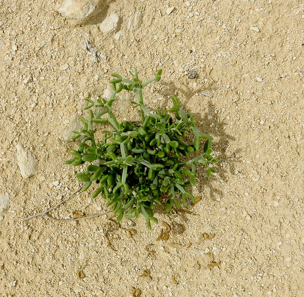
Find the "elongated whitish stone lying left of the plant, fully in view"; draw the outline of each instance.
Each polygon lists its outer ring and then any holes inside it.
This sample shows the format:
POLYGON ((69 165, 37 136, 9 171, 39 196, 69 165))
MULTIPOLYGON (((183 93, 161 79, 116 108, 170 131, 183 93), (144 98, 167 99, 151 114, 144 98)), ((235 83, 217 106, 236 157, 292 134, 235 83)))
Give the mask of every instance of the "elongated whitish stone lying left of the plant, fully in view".
POLYGON ((23 178, 29 178, 37 174, 37 160, 35 155, 28 153, 20 144, 16 145, 17 162, 23 178))

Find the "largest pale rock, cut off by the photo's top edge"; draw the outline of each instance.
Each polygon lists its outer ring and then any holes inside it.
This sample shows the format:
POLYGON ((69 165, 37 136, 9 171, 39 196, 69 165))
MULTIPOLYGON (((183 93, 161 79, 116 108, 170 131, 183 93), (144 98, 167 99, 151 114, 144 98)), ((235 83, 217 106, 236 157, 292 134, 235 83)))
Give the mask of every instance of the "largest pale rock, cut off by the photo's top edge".
POLYGON ((75 24, 81 24, 102 9, 102 0, 64 0, 58 12, 75 24))

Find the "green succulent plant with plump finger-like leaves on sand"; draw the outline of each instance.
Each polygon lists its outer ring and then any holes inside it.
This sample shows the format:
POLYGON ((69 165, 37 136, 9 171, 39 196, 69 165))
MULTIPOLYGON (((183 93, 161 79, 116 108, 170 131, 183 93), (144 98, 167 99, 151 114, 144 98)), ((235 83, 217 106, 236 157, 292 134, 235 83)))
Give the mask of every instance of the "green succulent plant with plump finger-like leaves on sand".
POLYGON ((88 119, 81 117, 84 128, 73 131, 72 139, 80 139, 78 150, 71 149, 73 159, 65 164, 78 166, 89 163, 85 172, 76 177, 85 182, 82 191, 86 191, 92 183, 99 185, 92 198, 101 194, 106 206, 112 207, 119 222, 126 218, 138 218, 142 214, 151 229, 150 221, 158 222, 154 217, 155 203, 165 204, 170 211, 174 204, 187 206, 186 197, 194 202, 188 186, 195 186, 196 165, 204 164, 207 176, 216 170, 209 166, 217 163, 211 155, 212 136, 203 134, 195 126, 193 114, 186 113, 176 96, 172 96, 173 106, 168 111, 155 110, 152 113, 143 102, 143 89, 154 81, 161 79, 162 70, 155 77, 142 82, 137 71, 130 72, 132 79, 112 73, 110 80, 113 87, 111 97, 98 98, 97 102, 85 98, 89 105, 88 119), (140 121, 118 123, 112 112, 115 96, 121 91, 133 91, 137 102, 133 107, 140 108, 140 121), (93 110, 97 110, 96 113, 93 110), (174 116, 173 116, 174 115, 174 116), (96 139, 93 123, 111 124, 110 130, 103 130, 103 139, 96 139), (187 143, 192 137, 193 142, 187 143), (205 139, 202 154, 201 139, 205 139), (193 156, 194 155, 194 156, 193 156))

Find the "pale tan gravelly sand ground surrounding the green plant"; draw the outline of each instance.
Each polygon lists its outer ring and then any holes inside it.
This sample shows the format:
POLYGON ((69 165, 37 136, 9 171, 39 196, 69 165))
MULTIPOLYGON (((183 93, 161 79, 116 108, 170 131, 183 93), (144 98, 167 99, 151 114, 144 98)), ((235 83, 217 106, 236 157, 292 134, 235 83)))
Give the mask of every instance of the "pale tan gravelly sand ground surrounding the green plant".
MULTIPOLYGON (((302 1, 123 0, 78 27, 56 12, 60 4, 0 6, 0 194, 11 197, 0 221, 0 296, 132 296, 132 287, 149 297, 304 296, 302 1), (130 31, 139 9, 142 24, 130 31), (104 35, 99 24, 113 11, 118 28, 104 35), (81 39, 105 58, 95 63, 81 39), (164 227, 149 231, 141 218, 122 222, 137 231, 130 238, 110 215, 22 221, 79 187, 77 171, 62 163, 76 146, 63 142, 63 131, 86 93, 133 67, 143 78, 163 68, 146 90, 150 107, 171 106, 176 94, 215 138, 218 173, 207 179, 201 170, 192 189, 202 200, 191 213, 156 213, 183 234, 156 241, 164 227), (38 160, 29 179, 20 175, 17 144, 38 160), (202 241, 202 233, 215 237, 202 241), (146 257, 147 244, 155 253, 146 257), (212 256, 220 264, 209 269, 212 256), (145 269, 150 278, 140 277, 145 269)), ((120 119, 138 116, 116 107, 120 119)), ((78 193, 52 215, 105 209, 102 198, 78 193)))

